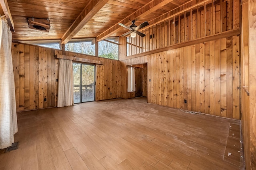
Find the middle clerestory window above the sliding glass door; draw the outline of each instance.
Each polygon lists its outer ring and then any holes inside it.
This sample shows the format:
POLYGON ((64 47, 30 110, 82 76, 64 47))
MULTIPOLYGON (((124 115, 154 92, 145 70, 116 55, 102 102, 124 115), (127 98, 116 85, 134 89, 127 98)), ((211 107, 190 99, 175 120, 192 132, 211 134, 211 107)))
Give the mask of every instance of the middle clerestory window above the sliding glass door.
POLYGON ((65 44, 66 51, 95 55, 95 38, 72 39, 65 44))

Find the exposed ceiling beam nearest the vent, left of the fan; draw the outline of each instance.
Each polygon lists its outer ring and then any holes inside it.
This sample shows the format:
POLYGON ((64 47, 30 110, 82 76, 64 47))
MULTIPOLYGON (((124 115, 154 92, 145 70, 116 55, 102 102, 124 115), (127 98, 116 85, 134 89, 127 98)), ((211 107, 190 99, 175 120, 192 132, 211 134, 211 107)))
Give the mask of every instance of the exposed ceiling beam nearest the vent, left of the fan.
POLYGON ((61 44, 66 44, 92 17, 108 2, 108 0, 90 0, 78 18, 72 23, 68 31, 63 35, 61 44))

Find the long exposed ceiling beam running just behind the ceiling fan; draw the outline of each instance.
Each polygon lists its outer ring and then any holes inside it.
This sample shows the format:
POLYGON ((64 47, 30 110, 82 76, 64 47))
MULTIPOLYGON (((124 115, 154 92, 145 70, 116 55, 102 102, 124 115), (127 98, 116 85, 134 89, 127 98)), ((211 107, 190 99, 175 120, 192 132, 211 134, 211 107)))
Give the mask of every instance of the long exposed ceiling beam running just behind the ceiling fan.
MULTIPOLYGON (((148 14, 158 10, 162 6, 165 6, 166 4, 168 4, 172 1, 173 0, 152 0, 148 4, 144 5, 142 8, 138 9, 134 13, 132 13, 129 16, 127 16, 126 18, 124 18, 123 20, 119 21, 118 23, 123 23, 124 25, 126 25, 128 23, 131 23, 132 20, 139 20, 140 18, 144 18, 148 14)), ((101 40, 109 37, 109 35, 123 29, 123 27, 118 25, 118 23, 116 23, 114 26, 110 27, 109 29, 107 29, 106 31, 104 31, 103 33, 98 35, 96 37, 96 41, 101 41, 101 40)))

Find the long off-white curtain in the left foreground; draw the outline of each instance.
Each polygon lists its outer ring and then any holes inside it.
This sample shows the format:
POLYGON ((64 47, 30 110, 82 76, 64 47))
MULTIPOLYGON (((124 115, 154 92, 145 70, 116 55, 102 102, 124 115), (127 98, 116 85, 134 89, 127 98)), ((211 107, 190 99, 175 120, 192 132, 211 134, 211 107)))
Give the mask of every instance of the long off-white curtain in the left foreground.
POLYGON ((0 149, 12 146, 18 131, 12 66, 12 32, 7 20, 0 22, 0 149))

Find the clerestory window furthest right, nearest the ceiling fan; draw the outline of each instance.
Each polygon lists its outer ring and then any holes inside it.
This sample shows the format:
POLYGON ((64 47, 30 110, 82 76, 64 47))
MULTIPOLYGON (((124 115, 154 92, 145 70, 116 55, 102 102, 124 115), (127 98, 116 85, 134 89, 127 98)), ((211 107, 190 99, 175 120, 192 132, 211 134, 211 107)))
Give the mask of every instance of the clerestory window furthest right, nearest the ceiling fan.
POLYGON ((119 53, 119 38, 106 38, 99 42, 98 55, 108 59, 118 60, 119 53))

